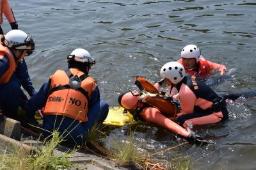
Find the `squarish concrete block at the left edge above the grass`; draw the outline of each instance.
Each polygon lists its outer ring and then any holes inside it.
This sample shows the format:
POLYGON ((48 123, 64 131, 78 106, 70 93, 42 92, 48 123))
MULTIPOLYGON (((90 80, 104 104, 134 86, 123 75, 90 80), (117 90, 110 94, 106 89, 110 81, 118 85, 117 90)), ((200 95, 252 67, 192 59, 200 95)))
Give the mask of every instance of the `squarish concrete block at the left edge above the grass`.
POLYGON ((0 121, 0 134, 20 141, 20 122, 4 116, 3 120, 0 121))

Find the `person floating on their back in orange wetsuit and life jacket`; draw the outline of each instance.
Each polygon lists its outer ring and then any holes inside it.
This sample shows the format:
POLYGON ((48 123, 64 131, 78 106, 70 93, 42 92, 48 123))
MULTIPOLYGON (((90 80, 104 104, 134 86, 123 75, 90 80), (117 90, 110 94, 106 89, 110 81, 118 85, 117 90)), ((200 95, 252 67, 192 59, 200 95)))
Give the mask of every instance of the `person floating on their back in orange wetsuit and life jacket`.
POLYGON ((125 110, 131 112, 135 120, 138 118, 142 121, 156 123, 156 125, 164 127, 174 134, 181 135, 191 142, 207 143, 199 135, 188 132, 188 130, 174 122, 179 109, 171 97, 157 95, 159 91, 143 77, 136 77, 136 85, 141 91, 124 91, 118 97, 118 103, 125 110), (142 93, 143 89, 145 89, 146 94, 142 93), (148 95, 148 92, 151 95, 148 95))

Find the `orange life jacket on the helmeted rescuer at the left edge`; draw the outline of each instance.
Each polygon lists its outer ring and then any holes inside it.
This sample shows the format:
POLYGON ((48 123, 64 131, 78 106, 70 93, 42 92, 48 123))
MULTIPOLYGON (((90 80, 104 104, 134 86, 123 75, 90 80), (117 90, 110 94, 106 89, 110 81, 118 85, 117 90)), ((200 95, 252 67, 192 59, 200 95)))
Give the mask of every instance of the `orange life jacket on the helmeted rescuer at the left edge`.
POLYGON ((9 60, 9 67, 6 72, 4 72, 4 74, 0 77, 0 84, 9 82, 13 75, 13 72, 15 71, 15 68, 17 67, 16 61, 13 58, 12 54, 10 54, 8 48, 4 47, 2 43, 0 43, 0 59, 3 59, 4 56, 7 56, 9 60))

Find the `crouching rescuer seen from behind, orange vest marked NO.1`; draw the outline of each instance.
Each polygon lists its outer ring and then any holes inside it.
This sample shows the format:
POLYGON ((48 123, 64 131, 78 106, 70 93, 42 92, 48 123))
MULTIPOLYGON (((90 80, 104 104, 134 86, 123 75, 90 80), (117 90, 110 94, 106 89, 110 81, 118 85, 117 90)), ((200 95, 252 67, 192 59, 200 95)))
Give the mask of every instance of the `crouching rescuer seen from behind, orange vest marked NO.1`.
POLYGON ((106 119, 109 105, 100 100, 97 83, 88 75, 95 65, 90 53, 75 49, 67 56, 67 62, 67 70, 57 70, 29 99, 26 112, 33 118, 35 111, 45 107, 43 137, 58 130, 65 143, 82 145, 88 130, 106 119))

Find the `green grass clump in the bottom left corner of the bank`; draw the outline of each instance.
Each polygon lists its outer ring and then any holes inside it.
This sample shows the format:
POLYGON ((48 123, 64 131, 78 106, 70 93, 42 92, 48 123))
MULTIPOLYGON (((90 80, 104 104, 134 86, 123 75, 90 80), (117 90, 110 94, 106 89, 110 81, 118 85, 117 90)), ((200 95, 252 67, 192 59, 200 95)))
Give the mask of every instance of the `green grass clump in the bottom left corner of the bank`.
POLYGON ((14 150, 6 150, 0 155, 0 169, 69 169, 72 163, 68 160, 76 150, 54 155, 54 149, 63 142, 61 135, 54 131, 52 138, 44 140, 42 144, 36 144, 31 153, 26 153, 21 147, 14 150))

